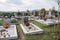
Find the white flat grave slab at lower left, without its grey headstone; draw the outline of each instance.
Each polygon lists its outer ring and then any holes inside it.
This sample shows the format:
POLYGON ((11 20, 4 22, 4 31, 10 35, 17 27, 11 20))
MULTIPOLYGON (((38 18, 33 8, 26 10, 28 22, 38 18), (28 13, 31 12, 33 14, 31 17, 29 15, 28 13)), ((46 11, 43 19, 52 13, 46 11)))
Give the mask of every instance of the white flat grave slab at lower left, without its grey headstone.
POLYGON ((0 26, 0 40, 17 39, 16 25, 10 25, 9 28, 0 26))

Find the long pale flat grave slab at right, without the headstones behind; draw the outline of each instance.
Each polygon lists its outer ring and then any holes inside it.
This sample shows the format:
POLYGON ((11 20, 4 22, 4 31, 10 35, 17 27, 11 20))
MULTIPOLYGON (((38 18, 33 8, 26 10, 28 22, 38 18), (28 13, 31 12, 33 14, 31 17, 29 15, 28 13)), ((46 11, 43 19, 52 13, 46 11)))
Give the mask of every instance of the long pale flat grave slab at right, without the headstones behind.
POLYGON ((59 24, 60 23, 60 21, 54 20, 54 19, 47 19, 47 20, 39 19, 39 20, 35 20, 35 21, 37 21, 41 24, 45 24, 45 25, 53 25, 53 24, 59 24))

